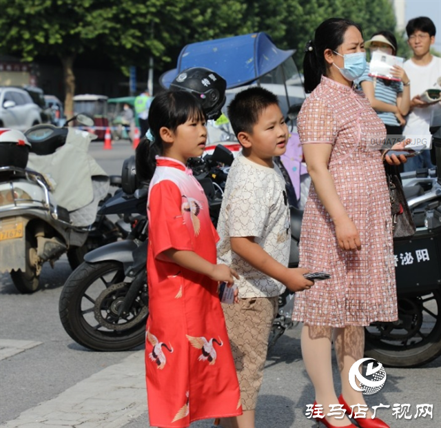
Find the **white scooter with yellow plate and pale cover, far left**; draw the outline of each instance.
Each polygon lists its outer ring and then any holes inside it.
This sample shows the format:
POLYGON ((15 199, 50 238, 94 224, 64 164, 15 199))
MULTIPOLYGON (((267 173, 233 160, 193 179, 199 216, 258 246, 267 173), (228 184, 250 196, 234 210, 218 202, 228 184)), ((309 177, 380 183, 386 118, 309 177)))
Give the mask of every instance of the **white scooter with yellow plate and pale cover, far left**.
MULTIPOLYGON (((93 125, 84 114, 73 120, 93 125)), ((88 154, 92 139, 48 123, 24 136, 0 130, 0 272, 10 272, 21 293, 39 289, 43 263, 53 267, 67 253, 74 269, 90 249, 122 236, 106 216, 96 216, 110 179, 88 154)), ((112 178, 112 185, 119 181, 112 178)))

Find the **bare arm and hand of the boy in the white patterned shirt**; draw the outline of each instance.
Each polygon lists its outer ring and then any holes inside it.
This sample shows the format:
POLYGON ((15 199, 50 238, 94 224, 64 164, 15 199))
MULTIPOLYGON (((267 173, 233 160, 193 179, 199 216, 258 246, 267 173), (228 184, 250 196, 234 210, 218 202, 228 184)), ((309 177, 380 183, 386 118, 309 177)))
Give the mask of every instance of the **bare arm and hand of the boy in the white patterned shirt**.
POLYGON ((254 241, 254 236, 232 236, 230 243, 232 250, 254 269, 283 283, 291 292, 300 292, 314 285, 303 276, 309 272, 308 269, 289 269, 278 263, 254 241))

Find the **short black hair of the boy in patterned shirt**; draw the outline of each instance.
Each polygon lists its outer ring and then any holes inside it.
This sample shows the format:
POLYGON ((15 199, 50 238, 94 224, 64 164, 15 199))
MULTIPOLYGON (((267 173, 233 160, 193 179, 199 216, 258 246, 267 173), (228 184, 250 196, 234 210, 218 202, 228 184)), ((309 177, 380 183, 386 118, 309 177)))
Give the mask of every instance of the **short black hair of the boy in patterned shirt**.
POLYGON ((228 119, 236 136, 239 132, 252 134, 263 110, 278 105, 277 96, 261 86, 252 86, 238 92, 228 106, 228 119))

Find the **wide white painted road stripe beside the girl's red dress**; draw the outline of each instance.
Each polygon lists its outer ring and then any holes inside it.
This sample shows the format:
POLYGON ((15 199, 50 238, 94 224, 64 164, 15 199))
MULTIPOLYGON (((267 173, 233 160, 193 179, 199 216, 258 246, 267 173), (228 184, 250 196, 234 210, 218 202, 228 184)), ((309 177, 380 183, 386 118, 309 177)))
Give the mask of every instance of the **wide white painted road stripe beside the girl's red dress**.
POLYGON ((146 411, 144 351, 136 351, 0 427, 120 428, 146 411))

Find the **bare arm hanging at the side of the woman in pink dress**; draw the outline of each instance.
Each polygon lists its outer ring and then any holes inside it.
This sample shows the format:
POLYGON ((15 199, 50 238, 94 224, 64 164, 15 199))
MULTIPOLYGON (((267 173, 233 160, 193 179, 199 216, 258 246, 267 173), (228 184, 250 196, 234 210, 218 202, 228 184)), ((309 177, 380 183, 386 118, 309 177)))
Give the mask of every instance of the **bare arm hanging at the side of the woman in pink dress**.
POLYGON ((360 236, 345 207, 338 197, 334 179, 328 170, 331 144, 304 144, 303 154, 307 170, 314 183, 318 198, 329 213, 336 227, 336 238, 342 249, 360 249, 360 236))

